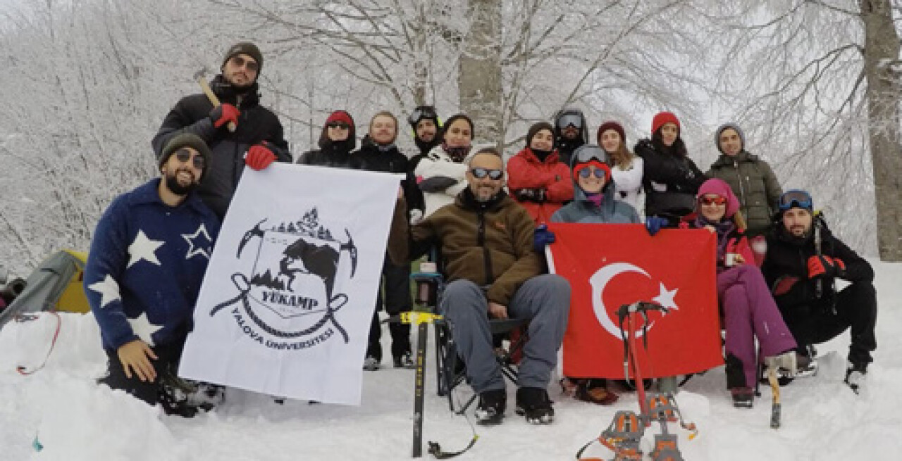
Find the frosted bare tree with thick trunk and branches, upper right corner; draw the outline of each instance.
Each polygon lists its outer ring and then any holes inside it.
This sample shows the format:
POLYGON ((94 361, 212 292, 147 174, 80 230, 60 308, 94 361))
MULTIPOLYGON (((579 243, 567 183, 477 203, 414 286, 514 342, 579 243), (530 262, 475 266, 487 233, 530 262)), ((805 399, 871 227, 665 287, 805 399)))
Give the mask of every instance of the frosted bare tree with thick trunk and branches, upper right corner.
POLYGON ((902 260, 898 8, 793 0, 709 16, 729 39, 719 94, 785 188, 813 191, 834 230, 886 261, 902 260))

